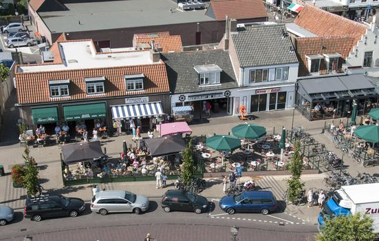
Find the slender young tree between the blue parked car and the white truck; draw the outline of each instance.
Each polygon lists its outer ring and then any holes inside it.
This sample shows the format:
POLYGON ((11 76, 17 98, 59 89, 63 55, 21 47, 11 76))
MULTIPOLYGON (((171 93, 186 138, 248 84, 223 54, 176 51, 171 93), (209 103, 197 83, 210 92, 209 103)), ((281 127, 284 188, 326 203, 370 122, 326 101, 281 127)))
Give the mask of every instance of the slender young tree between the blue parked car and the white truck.
POLYGON ((290 171, 291 177, 287 180, 288 185, 288 200, 293 204, 299 201, 299 196, 303 192, 304 183, 301 182, 301 168, 303 167, 303 162, 300 155, 300 143, 299 141, 295 143, 295 151, 291 158, 290 163, 288 163, 288 169, 290 171))

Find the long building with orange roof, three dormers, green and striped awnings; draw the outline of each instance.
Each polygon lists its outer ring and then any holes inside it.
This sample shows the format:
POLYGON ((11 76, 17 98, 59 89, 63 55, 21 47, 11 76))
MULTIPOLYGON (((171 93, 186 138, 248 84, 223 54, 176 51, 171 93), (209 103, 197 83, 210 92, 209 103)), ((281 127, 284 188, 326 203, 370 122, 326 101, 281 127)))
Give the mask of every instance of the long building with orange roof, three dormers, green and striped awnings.
POLYGON ((89 40, 53 47, 54 63, 17 65, 17 107, 30 127, 43 124, 52 134, 63 122, 73 130, 81 121, 89 131, 94 122, 111 127, 129 118, 149 125, 169 112, 169 82, 158 52, 101 53, 89 40))

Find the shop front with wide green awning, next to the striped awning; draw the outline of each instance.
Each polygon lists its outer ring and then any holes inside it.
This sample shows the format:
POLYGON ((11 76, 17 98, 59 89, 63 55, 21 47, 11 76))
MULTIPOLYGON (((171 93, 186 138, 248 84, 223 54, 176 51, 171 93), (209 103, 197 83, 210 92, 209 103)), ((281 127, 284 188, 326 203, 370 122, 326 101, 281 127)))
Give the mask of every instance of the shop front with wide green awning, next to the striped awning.
POLYGON ((87 131, 91 133, 97 122, 107 126, 106 106, 105 102, 63 105, 63 116, 70 129, 75 129, 76 124, 81 122, 87 127, 87 131))

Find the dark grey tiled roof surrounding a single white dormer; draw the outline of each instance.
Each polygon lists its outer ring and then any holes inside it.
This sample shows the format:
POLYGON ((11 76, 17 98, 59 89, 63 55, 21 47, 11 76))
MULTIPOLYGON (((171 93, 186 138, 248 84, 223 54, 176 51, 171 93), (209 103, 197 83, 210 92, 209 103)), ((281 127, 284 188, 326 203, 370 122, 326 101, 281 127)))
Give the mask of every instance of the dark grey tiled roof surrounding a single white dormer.
POLYGON ((238 87, 229 54, 224 50, 165 53, 161 54, 161 58, 166 63, 170 90, 173 94, 228 90, 238 87), (222 69, 221 85, 200 87, 199 76, 193 67, 213 63, 222 69))

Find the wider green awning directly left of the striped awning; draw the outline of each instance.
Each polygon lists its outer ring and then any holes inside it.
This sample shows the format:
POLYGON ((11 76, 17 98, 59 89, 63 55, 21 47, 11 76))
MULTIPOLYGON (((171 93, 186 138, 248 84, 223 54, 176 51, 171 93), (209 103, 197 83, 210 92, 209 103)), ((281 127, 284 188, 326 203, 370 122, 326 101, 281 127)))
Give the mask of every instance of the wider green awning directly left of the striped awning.
POLYGON ((78 121, 107 116, 105 103, 63 106, 65 121, 78 121))

